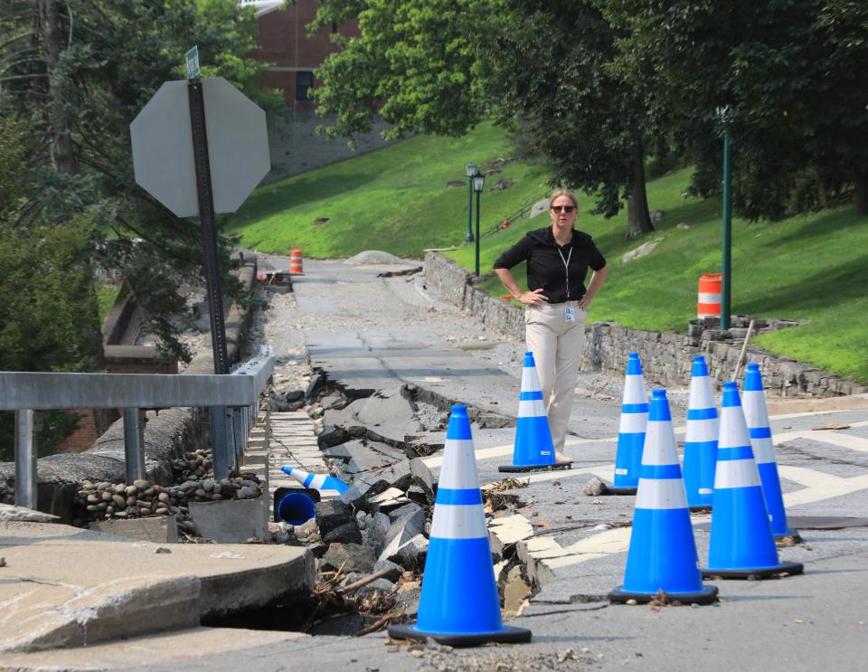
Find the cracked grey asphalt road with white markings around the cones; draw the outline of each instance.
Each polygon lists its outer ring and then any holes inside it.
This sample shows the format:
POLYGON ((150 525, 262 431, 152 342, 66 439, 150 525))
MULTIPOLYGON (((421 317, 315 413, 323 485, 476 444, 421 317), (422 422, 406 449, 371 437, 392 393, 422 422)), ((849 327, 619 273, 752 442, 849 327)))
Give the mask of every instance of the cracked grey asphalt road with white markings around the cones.
MULTIPOLYGON (((419 275, 378 277, 383 270, 396 269, 306 260, 292 313, 267 317, 278 324, 270 344, 278 375, 283 349, 306 349, 314 374, 308 411, 322 427, 321 446, 341 478, 364 480, 419 459, 436 481, 448 407, 466 403, 480 481, 484 487, 500 482, 498 465, 511 461, 523 345, 502 341, 439 300, 419 275)), ((365 636, 357 649, 338 645, 344 639, 335 639, 329 653, 317 646, 323 668, 807 669, 833 660, 838 669, 861 667, 868 650, 865 527, 803 530, 806 544, 781 548, 780 555, 805 563, 804 576, 717 582, 722 601, 712 607, 609 606, 603 598, 623 578, 634 497, 588 496, 583 488, 591 478, 611 480, 619 406, 619 399, 577 396, 566 449, 573 468, 510 474, 523 487, 489 495, 500 500, 492 506, 490 528, 501 528, 502 543, 493 550, 505 558, 504 586, 517 573, 533 591, 528 596, 516 586, 511 594, 521 611, 513 623, 533 630, 531 644, 461 652, 401 647, 392 653, 379 632, 365 636)), ((683 426, 684 412, 674 415, 675 427, 683 426)), ((812 443, 810 429, 829 418, 851 423, 852 435, 868 447, 868 427, 859 425, 863 412, 772 421, 776 436, 792 435, 778 449, 791 516, 868 515, 868 469, 840 459, 840 446, 833 459, 805 457, 807 444, 813 456, 825 450, 812 443)), ((425 509, 428 523, 428 493, 420 483, 408 483, 403 496, 425 509), (417 488, 412 494, 411 487, 417 488)), ((694 516, 701 561, 708 542, 703 520, 694 516)), ((291 656, 301 647, 288 642, 273 653, 291 656)), ((227 662, 231 658, 217 667, 227 662)))

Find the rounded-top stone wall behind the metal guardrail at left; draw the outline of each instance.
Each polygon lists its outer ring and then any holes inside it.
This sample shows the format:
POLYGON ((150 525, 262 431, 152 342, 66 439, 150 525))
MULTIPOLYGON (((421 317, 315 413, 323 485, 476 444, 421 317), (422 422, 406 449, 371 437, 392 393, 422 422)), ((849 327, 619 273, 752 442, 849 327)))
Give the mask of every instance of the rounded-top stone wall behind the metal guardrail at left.
MULTIPOLYGON (((244 289, 250 291, 256 277, 255 259, 236 271, 244 289)), ((225 319, 226 343, 231 362, 238 362, 250 325, 250 314, 233 305, 225 319)), ((209 347, 196 355, 185 373, 212 374, 213 355, 209 347)), ((147 477, 161 485, 172 480, 172 460, 182 451, 209 448, 211 431, 208 410, 172 408, 146 414, 145 469, 147 477)), ((124 460, 124 422, 116 421, 88 450, 61 453, 37 460, 39 482, 37 500, 40 511, 72 520, 72 500, 82 480, 119 483, 127 478, 124 460)), ((14 493, 14 462, 0 463, 0 501, 11 503, 14 493)))

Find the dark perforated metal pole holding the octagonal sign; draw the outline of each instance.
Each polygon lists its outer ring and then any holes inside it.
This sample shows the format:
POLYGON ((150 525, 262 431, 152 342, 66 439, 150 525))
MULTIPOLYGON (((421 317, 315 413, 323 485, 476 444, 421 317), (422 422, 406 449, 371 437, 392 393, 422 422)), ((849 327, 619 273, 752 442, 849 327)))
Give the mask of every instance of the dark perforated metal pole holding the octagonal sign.
POLYGON ((208 136, 205 132, 205 102, 202 80, 198 78, 189 80, 187 92, 190 99, 190 125, 193 130, 193 160, 196 166, 199 218, 202 221, 205 251, 205 276, 208 281, 214 373, 229 374, 229 353, 226 347, 223 294, 220 287, 220 267, 217 261, 217 225, 214 217, 211 164, 208 160, 208 136))

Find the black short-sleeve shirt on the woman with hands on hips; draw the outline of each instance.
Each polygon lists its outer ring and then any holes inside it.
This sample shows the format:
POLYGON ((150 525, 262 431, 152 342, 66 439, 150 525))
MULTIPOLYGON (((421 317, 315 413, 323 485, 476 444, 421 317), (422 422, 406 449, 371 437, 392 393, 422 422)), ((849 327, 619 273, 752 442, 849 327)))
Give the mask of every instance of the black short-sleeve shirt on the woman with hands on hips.
POLYGON ((561 247, 554 240, 551 226, 525 233, 522 240, 497 258, 495 269, 512 269, 524 260, 527 261, 527 288, 531 291, 542 289, 549 303, 578 301, 585 295, 588 268, 600 270, 606 265, 588 233, 573 229, 572 240, 561 247), (563 263, 568 258, 569 274, 563 263))

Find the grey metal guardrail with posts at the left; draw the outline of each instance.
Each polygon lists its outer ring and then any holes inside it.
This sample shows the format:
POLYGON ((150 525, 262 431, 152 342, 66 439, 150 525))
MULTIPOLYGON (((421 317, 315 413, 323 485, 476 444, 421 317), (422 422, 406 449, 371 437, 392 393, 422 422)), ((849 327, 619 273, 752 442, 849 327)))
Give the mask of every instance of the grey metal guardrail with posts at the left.
POLYGON ((268 347, 229 375, 0 372, 0 410, 15 412, 15 504, 36 508, 35 411, 122 408, 127 483, 132 483, 146 474, 146 410, 207 407, 214 478, 227 478, 230 469, 238 468, 256 421, 259 393, 273 373, 268 347))

